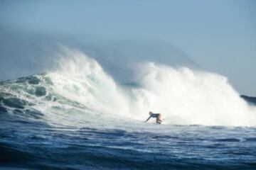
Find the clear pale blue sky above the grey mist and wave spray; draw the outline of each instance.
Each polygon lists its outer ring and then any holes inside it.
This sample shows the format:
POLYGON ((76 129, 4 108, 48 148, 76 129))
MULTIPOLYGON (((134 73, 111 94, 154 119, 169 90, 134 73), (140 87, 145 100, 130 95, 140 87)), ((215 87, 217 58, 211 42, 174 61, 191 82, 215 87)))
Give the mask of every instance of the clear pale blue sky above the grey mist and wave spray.
POLYGON ((1 1, 0 26, 102 39, 154 38, 256 96, 256 1, 1 1))

